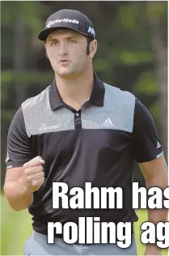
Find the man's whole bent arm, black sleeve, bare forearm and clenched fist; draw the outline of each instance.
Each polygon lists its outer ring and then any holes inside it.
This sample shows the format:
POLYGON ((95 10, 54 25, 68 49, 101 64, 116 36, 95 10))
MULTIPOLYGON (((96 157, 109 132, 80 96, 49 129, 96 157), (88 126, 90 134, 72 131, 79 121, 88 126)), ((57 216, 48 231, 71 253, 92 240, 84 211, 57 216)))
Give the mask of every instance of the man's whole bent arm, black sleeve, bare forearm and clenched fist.
POLYGON ((11 122, 7 136, 6 178, 4 192, 15 211, 32 204, 33 192, 44 182, 40 157, 33 159, 31 139, 27 136, 23 111, 19 109, 11 122))

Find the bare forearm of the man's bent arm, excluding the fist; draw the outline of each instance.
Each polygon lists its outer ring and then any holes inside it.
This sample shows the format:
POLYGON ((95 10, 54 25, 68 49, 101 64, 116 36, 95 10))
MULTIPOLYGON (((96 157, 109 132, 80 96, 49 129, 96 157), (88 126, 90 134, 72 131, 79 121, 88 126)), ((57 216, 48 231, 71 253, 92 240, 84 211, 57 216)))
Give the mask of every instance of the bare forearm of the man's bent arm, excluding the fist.
POLYGON ((5 183, 4 192, 8 203, 15 211, 27 209, 32 204, 33 194, 23 185, 23 178, 5 183))

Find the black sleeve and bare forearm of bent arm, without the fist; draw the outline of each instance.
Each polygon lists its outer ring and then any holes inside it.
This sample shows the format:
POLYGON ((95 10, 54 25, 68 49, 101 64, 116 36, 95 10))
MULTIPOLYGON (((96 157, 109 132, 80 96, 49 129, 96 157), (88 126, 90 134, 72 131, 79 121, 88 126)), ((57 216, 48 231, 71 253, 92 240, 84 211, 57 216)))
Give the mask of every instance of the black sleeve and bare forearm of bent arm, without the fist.
POLYGON ((32 147, 27 136, 22 108, 15 113, 11 122, 6 148, 4 193, 10 206, 19 211, 32 203, 32 194, 23 188, 23 164, 32 159, 32 147))

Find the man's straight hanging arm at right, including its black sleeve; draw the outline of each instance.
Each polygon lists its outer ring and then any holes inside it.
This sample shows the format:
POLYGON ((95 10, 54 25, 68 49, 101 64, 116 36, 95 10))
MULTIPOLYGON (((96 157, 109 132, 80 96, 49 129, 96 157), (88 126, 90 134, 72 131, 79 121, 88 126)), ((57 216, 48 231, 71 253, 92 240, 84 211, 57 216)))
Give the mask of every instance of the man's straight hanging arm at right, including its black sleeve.
MULTIPOLYGON (((163 149, 158 138, 158 132, 153 118, 142 103, 136 99, 133 134, 133 156, 146 180, 147 189, 158 186, 165 189, 167 185, 167 164, 163 156, 163 149)), ((167 220, 167 210, 148 209, 148 221, 157 224, 167 220)), ((156 245, 147 245, 145 255, 159 255, 156 245)))

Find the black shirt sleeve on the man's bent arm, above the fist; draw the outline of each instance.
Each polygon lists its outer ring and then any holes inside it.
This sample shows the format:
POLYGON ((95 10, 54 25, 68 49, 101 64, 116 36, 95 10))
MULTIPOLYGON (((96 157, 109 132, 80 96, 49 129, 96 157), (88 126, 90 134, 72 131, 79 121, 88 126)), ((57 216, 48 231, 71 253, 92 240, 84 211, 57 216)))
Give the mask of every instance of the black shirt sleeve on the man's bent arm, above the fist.
POLYGON ((6 169, 23 166, 32 159, 31 139, 27 136, 23 110, 20 108, 11 122, 7 134, 6 169))

